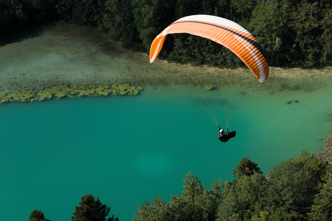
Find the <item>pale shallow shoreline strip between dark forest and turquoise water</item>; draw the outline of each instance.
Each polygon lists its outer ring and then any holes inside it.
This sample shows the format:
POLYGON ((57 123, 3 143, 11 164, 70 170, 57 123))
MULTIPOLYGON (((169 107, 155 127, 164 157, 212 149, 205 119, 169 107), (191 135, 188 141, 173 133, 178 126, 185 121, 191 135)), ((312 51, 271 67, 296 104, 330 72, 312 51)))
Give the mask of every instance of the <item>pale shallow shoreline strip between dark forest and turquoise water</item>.
POLYGON ((206 86, 247 90, 311 92, 332 83, 331 68, 321 70, 270 68, 260 83, 249 69, 219 69, 156 60, 111 42, 91 28, 54 26, 39 36, 1 46, 0 88, 13 92, 51 84, 127 83, 131 86, 206 86))

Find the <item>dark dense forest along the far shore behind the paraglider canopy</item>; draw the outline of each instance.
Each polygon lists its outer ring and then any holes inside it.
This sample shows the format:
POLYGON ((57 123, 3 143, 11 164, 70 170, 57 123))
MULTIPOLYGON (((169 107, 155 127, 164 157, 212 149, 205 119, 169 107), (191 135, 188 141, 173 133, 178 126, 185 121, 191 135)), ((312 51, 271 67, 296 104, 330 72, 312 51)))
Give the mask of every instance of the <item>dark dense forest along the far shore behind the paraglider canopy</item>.
MULTIPOLYGON (((252 33, 270 67, 331 65, 330 0, 0 0, 0 45, 10 34, 57 21, 98 27, 114 41, 147 53, 154 37, 195 14, 232 20, 252 33)), ((167 37, 161 59, 215 67, 244 67, 228 49, 189 34, 167 37)))

